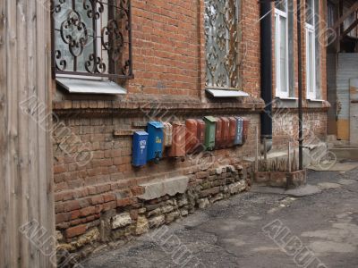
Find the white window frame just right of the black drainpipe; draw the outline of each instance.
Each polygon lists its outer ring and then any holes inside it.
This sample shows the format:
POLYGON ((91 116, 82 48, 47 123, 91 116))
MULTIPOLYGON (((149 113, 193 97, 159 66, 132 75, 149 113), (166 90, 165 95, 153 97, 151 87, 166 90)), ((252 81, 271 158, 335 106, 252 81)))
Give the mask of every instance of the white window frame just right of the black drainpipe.
POLYGON ((276 57, 276 96, 277 97, 289 97, 289 59, 288 59, 288 16, 287 16, 287 2, 286 12, 283 12, 279 9, 275 9, 275 57, 276 57), (280 61, 280 49, 281 44, 281 20, 280 17, 286 18, 286 85, 281 85, 281 61, 280 61), (286 90, 285 90, 286 89, 286 90))

